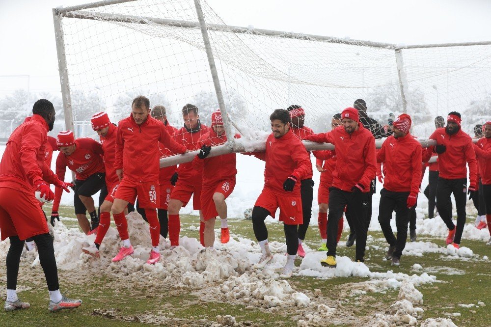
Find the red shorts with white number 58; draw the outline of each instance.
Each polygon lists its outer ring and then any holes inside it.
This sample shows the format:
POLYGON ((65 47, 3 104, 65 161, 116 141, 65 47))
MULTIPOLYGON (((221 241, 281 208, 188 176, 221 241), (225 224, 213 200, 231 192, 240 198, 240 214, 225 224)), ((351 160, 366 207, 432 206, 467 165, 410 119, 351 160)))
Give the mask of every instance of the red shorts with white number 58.
POLYGON ((134 182, 123 178, 119 182, 114 198, 135 203, 138 196, 138 204, 142 209, 157 209, 160 205, 159 181, 134 182))

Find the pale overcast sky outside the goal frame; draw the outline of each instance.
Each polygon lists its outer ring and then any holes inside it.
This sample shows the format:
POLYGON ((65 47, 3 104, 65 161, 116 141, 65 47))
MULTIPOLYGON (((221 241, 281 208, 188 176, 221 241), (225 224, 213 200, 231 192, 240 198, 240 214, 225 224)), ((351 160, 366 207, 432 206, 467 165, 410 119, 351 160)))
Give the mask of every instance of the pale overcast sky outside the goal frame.
MULTIPOLYGON (((0 0, 0 96, 27 87, 34 92, 59 92, 52 8, 84 2, 0 0)), ((209 0, 208 3, 226 24, 236 26, 252 25, 396 44, 491 40, 491 0, 404 3, 393 0, 209 0)))

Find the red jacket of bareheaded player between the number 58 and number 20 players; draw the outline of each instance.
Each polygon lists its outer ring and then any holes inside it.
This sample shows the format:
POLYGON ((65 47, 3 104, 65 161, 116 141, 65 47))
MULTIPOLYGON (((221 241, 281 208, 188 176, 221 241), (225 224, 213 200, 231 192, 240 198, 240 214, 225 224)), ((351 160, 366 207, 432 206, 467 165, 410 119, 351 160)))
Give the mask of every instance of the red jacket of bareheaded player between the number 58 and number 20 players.
MULTIPOLYGON (((198 140, 201 136, 208 133, 208 127, 205 125, 200 125, 200 129, 196 132, 189 132, 186 127, 181 127, 177 130, 172 137, 179 144, 184 144, 188 150, 198 150, 198 140)), ((179 164, 177 168, 178 183, 184 185, 201 185, 203 174, 192 167, 192 163, 179 164)))

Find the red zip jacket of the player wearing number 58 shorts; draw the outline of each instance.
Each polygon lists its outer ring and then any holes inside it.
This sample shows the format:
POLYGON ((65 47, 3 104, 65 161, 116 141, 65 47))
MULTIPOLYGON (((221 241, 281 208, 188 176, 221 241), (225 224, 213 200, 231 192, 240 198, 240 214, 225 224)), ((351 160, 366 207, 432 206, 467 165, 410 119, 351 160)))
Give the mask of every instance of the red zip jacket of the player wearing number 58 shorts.
POLYGON ((138 126, 130 115, 119 121, 114 168, 123 169, 124 178, 135 182, 159 180, 160 151, 156 151, 159 142, 175 154, 187 150, 172 139, 160 120, 148 116, 138 126))

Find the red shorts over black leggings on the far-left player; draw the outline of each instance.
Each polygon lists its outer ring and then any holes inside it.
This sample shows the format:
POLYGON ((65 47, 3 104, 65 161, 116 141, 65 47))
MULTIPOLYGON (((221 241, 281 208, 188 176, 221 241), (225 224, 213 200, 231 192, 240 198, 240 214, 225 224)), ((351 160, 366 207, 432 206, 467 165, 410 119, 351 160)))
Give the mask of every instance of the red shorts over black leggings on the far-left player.
POLYGON ((0 187, 1 240, 19 236, 29 237, 49 233, 48 224, 34 193, 0 187))

